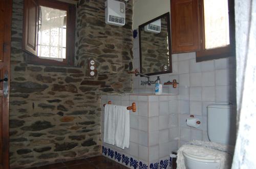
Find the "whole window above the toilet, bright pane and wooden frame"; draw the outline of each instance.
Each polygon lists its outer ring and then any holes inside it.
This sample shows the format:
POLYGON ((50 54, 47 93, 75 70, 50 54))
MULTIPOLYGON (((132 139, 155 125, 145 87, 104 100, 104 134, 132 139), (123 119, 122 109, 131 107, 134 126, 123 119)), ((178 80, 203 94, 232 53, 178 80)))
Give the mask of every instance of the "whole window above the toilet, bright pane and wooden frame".
POLYGON ((234 1, 199 1, 201 44, 196 52, 197 62, 233 56, 234 1))

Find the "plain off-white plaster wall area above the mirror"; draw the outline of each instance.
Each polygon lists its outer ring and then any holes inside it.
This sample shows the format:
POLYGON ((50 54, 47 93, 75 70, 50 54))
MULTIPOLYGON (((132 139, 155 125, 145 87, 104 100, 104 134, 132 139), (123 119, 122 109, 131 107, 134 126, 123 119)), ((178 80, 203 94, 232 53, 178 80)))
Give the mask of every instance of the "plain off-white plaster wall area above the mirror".
POLYGON ((170 0, 134 0, 133 30, 139 25, 170 12, 170 0))

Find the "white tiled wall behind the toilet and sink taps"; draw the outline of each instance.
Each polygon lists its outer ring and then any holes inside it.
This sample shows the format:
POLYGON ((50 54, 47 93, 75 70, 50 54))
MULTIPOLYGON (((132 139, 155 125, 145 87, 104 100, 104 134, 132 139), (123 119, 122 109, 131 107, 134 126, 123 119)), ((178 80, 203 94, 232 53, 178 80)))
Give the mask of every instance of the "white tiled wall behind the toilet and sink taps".
MULTIPOLYGON (((139 66, 139 38, 134 39, 134 70, 140 70, 139 66)), ((196 53, 180 53, 172 55, 173 73, 151 76, 156 80, 160 76, 161 83, 176 79, 179 85, 163 86, 164 93, 179 95, 178 118, 172 113, 174 107, 170 107, 170 122, 175 121, 179 126, 179 146, 193 139, 208 141, 207 137, 207 113, 209 104, 219 102, 232 102, 236 104, 236 61, 234 57, 223 58, 196 63, 196 53), (186 118, 195 115, 201 121, 197 129, 188 127, 186 118)), ((140 81, 147 80, 144 77, 134 76, 133 89, 135 93, 154 92, 154 85, 141 86, 140 81)), ((177 108, 174 108, 177 109, 177 108)), ((170 133, 175 135, 175 133, 170 133)))

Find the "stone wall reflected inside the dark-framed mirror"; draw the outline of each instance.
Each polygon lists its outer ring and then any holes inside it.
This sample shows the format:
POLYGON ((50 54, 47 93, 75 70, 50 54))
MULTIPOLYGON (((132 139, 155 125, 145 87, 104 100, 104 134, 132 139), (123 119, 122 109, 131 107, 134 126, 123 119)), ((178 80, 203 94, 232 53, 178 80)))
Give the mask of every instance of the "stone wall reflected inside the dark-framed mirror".
POLYGON ((161 18, 161 32, 158 34, 141 31, 142 73, 163 71, 169 66, 167 21, 161 18))

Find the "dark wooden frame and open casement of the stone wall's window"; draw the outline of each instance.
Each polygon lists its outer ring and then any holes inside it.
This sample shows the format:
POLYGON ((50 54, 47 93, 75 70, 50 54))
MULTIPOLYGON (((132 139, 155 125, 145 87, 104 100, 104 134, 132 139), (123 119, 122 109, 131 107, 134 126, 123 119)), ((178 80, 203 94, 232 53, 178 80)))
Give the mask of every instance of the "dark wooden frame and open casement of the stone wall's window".
POLYGON ((26 12, 26 1, 24 2, 24 24, 23 24, 23 49, 29 54, 26 55, 26 62, 29 64, 39 64, 39 65, 57 65, 57 66, 73 66, 74 65, 74 54, 75 54, 75 20, 76 20, 76 8, 73 4, 63 3, 55 0, 33 0, 37 5, 36 11, 36 46, 38 40, 38 19, 39 19, 39 6, 65 10, 67 11, 67 32, 66 32, 66 59, 63 59, 62 62, 41 59, 37 56, 37 48, 34 49, 34 52, 26 49, 26 44, 28 41, 28 12, 26 12), (26 32, 27 31, 27 32, 26 32), (36 53, 36 54, 35 54, 36 53))

